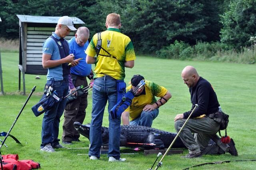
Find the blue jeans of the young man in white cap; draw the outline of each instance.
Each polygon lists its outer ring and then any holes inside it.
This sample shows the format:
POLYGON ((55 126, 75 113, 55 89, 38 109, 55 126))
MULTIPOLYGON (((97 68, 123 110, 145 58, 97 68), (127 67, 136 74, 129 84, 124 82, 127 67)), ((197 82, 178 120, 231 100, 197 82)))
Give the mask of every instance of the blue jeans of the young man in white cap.
MULTIPOLYGON (((47 84, 49 80, 47 80, 47 84)), ((68 80, 55 81, 53 86, 53 91, 59 94, 59 96, 65 97, 68 95, 68 80)), ((59 134, 59 124, 60 117, 63 114, 64 108, 66 106, 66 99, 56 103, 51 110, 44 113, 44 118, 42 121, 42 144, 43 148, 47 144, 55 146, 59 144, 58 134, 59 134)))

